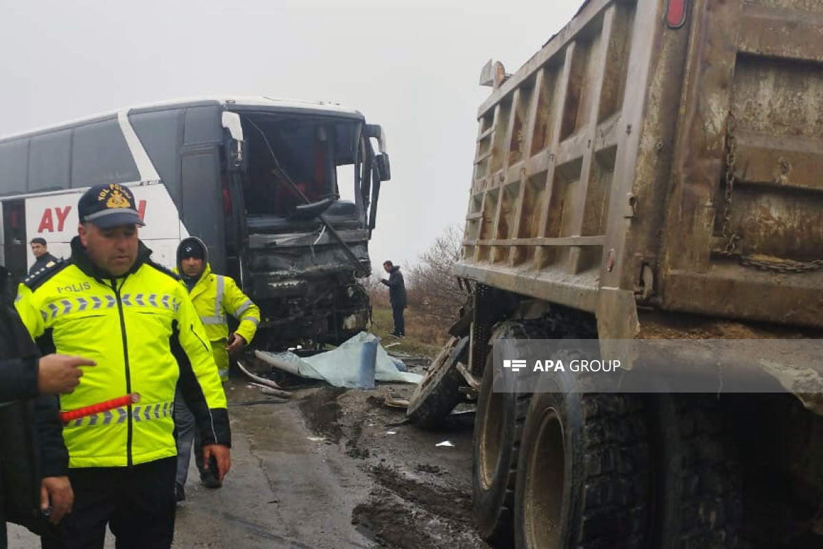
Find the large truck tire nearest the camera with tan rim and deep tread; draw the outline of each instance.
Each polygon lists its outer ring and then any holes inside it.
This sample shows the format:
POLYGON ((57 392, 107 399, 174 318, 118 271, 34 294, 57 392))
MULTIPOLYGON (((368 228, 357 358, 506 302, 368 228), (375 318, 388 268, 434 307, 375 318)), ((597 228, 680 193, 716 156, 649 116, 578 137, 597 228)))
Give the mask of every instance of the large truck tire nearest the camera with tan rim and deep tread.
MULTIPOLYGON (((574 354, 557 353, 556 360, 574 354)), ((638 395, 580 393, 571 372, 542 375, 518 461, 516 547, 634 549, 650 523, 649 444, 638 395)))

